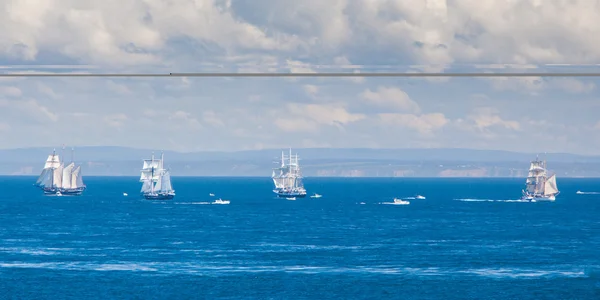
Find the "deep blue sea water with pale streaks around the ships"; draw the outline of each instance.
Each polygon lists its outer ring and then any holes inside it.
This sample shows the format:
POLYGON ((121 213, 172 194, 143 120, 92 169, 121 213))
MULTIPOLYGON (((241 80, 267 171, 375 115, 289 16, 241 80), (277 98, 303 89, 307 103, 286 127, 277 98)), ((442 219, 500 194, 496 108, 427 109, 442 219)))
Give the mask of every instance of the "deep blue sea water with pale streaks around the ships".
POLYGON ((173 177, 172 201, 34 181, 0 177, 4 299, 600 299, 600 194, 575 194, 599 179, 554 203, 515 201, 521 179, 306 178, 323 198, 296 201, 269 178, 173 177))

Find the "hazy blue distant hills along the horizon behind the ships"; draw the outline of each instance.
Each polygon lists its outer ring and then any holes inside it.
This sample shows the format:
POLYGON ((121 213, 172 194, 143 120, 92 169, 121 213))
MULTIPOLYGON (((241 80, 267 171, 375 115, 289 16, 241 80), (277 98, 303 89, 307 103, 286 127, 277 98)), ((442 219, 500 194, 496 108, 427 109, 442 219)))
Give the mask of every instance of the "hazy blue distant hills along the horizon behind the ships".
MULTIPOLYGON (((141 160, 153 150, 127 147, 77 147, 75 161, 85 175, 138 175, 141 160)), ((270 176, 281 149, 182 153, 165 151, 173 176, 270 176)), ((284 151, 286 151, 284 149, 284 151)), ((52 148, 0 150, 0 174, 37 175, 52 148)), ((160 150, 154 150, 156 155, 160 150)), ((534 153, 473 149, 293 149, 305 176, 523 177, 534 153)), ((61 159, 70 161, 71 151, 61 159)), ((600 156, 541 155, 561 177, 600 177, 600 156)))

